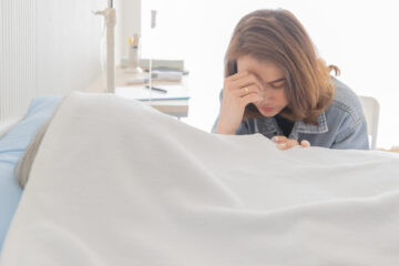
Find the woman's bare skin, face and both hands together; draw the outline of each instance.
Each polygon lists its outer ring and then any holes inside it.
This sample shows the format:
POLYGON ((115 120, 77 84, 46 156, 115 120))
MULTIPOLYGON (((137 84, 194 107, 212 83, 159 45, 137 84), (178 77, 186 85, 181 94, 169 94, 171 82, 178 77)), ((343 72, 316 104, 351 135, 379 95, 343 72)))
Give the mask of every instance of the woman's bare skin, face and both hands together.
MULTIPOLYGON (((235 134, 238 129, 245 106, 255 104, 259 113, 273 117, 287 106, 284 94, 285 79, 280 68, 272 62, 259 62, 245 55, 237 60, 237 73, 224 80, 223 101, 217 133, 235 134)), ((296 140, 278 135, 272 139, 280 150, 299 145, 296 140)), ((308 141, 301 141, 303 147, 310 146, 308 141)))

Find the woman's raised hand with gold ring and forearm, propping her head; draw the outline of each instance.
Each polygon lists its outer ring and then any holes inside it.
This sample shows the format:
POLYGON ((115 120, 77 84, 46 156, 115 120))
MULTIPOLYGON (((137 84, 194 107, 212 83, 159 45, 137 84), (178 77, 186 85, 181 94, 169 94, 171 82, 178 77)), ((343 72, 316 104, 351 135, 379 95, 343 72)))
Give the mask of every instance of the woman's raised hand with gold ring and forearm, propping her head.
POLYGON ((226 78, 216 132, 235 134, 243 121, 245 106, 262 100, 262 84, 253 73, 243 71, 226 78))

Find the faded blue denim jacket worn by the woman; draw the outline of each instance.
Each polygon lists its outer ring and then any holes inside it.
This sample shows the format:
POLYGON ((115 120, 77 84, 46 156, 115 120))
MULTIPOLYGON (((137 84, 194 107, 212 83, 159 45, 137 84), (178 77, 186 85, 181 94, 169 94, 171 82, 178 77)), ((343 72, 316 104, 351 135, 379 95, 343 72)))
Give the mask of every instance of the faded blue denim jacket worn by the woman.
MULTIPOLYGON (((318 116, 318 125, 296 121, 289 139, 300 143, 310 142, 311 146, 329 149, 369 150, 366 119, 358 96, 346 84, 332 78, 335 96, 332 103, 318 116)), ((222 101, 222 92, 221 92, 222 101)), ((212 129, 216 132, 217 120, 212 129)), ((260 133, 268 139, 284 135, 274 117, 243 120, 236 134, 260 133)))

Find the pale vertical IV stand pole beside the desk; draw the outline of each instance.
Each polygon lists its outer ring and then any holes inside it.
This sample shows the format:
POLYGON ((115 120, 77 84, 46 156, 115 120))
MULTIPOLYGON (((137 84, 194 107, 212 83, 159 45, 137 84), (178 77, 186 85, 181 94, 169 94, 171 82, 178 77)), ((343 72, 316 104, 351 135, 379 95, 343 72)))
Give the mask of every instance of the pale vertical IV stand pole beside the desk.
POLYGON ((109 0, 109 7, 94 14, 104 16, 106 27, 106 92, 115 93, 115 41, 114 29, 116 24, 116 10, 113 8, 113 0, 109 0))

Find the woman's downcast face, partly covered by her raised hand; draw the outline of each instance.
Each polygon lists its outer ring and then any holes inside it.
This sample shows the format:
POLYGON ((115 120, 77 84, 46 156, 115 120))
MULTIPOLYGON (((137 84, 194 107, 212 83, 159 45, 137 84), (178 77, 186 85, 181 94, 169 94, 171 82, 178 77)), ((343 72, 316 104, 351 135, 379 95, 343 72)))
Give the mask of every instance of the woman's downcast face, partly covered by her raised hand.
POLYGON ((250 55, 244 55, 237 60, 237 71, 248 71, 259 80, 264 99, 254 104, 264 116, 275 116, 287 106, 288 102, 284 94, 286 84, 284 72, 276 64, 259 62, 250 55))

